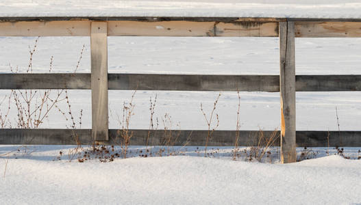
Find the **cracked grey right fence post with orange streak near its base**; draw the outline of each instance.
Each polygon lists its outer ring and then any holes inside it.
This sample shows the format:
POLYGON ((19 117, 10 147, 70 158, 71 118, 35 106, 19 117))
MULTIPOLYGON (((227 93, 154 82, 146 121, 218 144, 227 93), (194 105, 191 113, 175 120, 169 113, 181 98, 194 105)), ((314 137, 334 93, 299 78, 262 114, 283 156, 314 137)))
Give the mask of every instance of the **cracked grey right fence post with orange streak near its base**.
POLYGON ((295 23, 279 22, 281 163, 296 161, 295 23))

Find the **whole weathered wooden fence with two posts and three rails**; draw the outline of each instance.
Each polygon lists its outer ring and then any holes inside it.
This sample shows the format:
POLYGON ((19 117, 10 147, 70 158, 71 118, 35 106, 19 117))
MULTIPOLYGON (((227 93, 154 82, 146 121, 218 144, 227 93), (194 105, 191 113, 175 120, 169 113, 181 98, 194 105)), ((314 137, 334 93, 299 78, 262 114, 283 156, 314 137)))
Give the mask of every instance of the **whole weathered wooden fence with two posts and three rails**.
MULTIPOLYGON (((0 89, 91 89, 92 129, 82 143, 119 143, 108 129, 108 90, 280 92, 281 161, 296 160, 297 146, 361 146, 357 131, 296 131, 295 92, 361 91, 361 75, 295 75, 295 38, 361 37, 361 19, 197 17, 0 17, 0 36, 90 36, 91 74, 0 74, 0 89), (279 37, 279 75, 108 74, 107 36, 279 37), (41 83, 39 83, 41 81, 41 83), (327 139, 328 136, 328 139, 327 139)), ((175 146, 203 146, 207 131, 179 132, 175 146), (189 137, 189 136, 192 137, 189 137)), ((257 131, 240 131, 247 146, 257 131)), ((270 134, 271 131, 265 131, 270 134)), ((1 144, 74 144, 69 129, 1 129, 1 144)), ((134 130, 131 145, 145 145, 134 130)), ((236 131, 215 131, 209 146, 233 146, 236 131)), ((163 133, 155 132, 154 145, 163 133)))

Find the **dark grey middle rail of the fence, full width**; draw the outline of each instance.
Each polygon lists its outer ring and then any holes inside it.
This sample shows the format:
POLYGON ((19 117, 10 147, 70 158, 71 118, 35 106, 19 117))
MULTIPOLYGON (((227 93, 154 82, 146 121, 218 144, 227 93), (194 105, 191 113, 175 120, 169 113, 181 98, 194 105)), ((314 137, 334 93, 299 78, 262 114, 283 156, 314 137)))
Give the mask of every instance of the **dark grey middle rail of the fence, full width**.
MULTIPOLYGON (((0 90, 11 89, 89 90, 90 73, 0 74, 0 90)), ((112 73, 108 89, 279 92, 279 75, 112 73)), ((296 91, 361 91, 361 75, 297 75, 296 91)))

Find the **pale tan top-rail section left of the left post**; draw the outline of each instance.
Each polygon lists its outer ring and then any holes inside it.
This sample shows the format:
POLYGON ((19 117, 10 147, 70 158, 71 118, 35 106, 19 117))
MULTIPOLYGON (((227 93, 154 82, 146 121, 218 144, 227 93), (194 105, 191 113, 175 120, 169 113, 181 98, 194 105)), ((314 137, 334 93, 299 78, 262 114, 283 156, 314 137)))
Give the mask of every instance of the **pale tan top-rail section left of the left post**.
POLYGON ((1 22, 0 36, 90 36, 85 20, 1 22))

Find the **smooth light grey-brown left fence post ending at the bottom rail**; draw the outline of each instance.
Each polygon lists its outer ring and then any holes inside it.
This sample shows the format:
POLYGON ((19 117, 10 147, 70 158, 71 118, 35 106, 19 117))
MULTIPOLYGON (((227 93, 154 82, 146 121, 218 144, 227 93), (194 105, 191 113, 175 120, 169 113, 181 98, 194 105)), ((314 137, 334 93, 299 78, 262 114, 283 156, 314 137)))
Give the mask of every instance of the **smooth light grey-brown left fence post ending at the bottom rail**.
POLYGON ((90 28, 92 139, 108 141, 108 35, 107 23, 94 21, 90 28))

